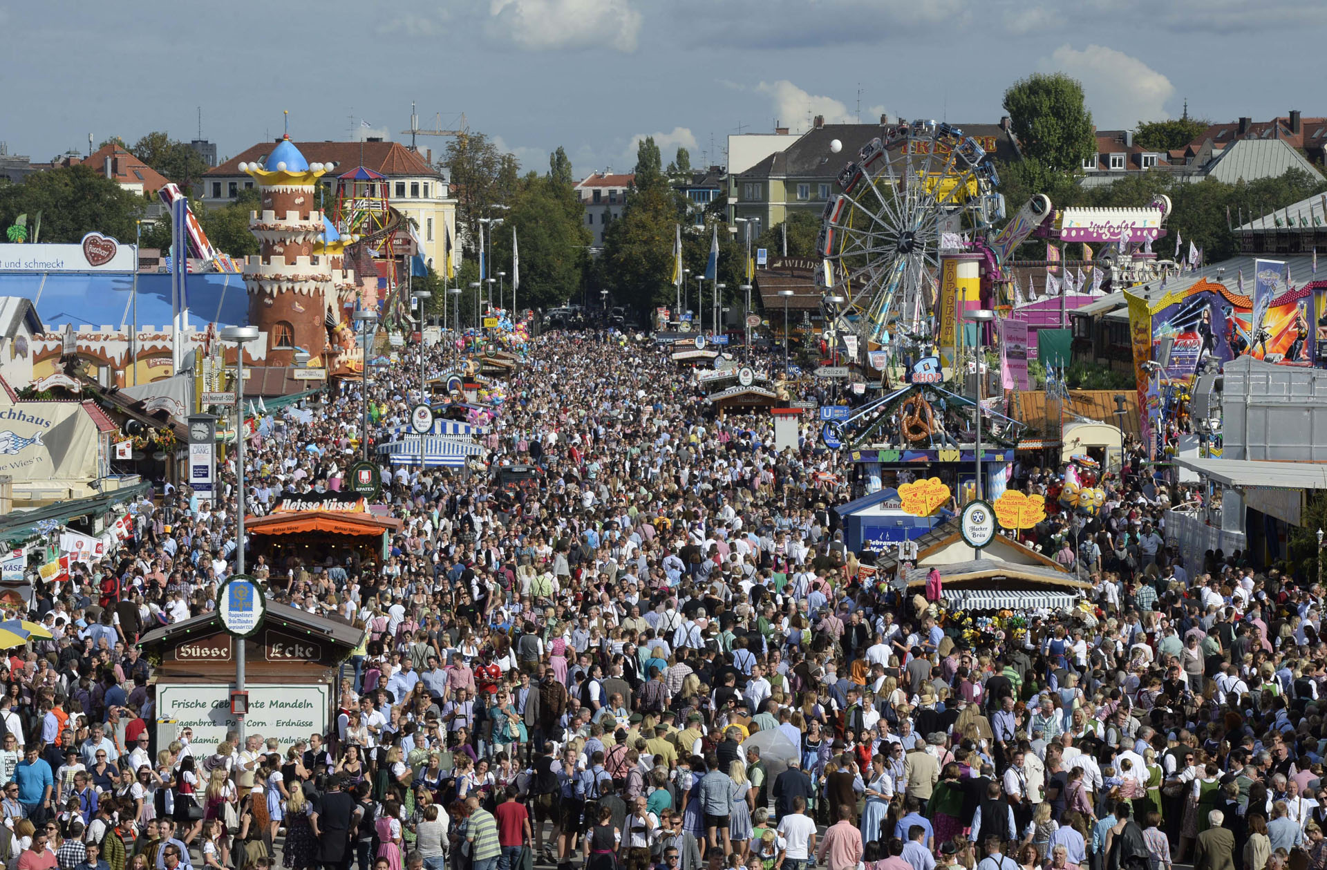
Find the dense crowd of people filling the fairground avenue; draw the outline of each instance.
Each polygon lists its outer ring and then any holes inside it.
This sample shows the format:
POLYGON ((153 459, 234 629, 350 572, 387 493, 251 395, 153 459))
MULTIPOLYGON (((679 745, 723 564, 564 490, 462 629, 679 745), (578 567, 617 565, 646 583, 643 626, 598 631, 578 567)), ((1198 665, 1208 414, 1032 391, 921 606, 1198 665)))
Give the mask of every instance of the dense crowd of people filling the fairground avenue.
MULTIPOLYGON (((1141 466, 1031 532, 1108 545, 1080 606, 978 633, 861 570, 829 511, 849 469, 809 434, 776 451, 617 333, 523 353, 483 443, 539 477, 387 468, 381 562, 248 560, 273 606, 365 629, 325 733, 157 744, 137 641, 234 572, 234 466, 216 504, 143 499, 121 552, 37 586, 53 639, 0 668, 11 870, 1327 867, 1322 589, 1186 570, 1141 466)), ((354 382, 264 420, 255 511, 338 488, 407 423, 413 369, 369 385, 368 432, 354 382)))

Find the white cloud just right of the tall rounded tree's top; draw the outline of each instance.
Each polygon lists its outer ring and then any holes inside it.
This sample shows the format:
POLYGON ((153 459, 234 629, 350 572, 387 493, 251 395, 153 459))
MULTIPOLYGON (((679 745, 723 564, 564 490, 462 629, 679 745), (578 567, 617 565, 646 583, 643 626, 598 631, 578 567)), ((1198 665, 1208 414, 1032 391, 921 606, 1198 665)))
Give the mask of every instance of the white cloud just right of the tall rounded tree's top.
POLYGON ((1083 82, 1092 121, 1100 129, 1128 129, 1139 121, 1169 117, 1165 103, 1174 95, 1170 80, 1113 48, 1088 45, 1080 52, 1062 45, 1040 68, 1083 82))

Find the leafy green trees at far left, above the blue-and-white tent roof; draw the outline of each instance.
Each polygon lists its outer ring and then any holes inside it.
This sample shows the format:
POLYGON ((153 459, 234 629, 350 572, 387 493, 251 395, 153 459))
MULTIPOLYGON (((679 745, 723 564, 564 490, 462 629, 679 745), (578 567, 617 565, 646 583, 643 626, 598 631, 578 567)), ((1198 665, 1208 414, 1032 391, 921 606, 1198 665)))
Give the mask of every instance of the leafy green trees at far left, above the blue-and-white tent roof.
POLYGON ((0 225, 40 211, 42 241, 73 243, 101 232, 133 244, 134 221, 145 207, 142 196, 82 163, 33 172, 21 184, 0 187, 0 225))

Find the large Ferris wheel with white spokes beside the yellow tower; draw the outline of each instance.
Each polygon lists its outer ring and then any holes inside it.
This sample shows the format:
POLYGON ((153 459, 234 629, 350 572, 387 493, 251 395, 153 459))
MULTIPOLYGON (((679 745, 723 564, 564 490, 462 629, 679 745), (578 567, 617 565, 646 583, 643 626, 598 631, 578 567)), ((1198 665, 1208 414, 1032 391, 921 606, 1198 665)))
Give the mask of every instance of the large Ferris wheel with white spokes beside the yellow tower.
POLYGON ((836 326, 884 345, 916 334, 936 300, 942 241, 1003 218, 986 151, 934 121, 901 122, 839 172, 821 214, 817 279, 836 326))

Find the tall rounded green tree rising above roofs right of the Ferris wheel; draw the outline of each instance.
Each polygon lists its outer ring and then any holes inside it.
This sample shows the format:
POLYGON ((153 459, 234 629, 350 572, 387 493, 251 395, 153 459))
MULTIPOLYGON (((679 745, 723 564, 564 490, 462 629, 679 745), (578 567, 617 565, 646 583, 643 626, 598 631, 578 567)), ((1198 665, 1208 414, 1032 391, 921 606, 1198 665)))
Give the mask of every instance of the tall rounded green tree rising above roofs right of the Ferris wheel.
POLYGON ((1005 92, 1003 105, 1024 159, 1072 171, 1096 153, 1092 113, 1078 80, 1034 73, 1005 92))

